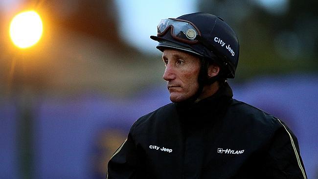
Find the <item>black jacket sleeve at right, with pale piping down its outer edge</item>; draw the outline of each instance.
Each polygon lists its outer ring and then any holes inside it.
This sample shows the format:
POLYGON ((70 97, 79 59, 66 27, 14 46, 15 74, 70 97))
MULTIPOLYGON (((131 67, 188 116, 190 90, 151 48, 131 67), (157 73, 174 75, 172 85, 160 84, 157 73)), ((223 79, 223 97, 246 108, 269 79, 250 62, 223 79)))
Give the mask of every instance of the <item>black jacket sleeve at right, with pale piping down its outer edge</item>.
POLYGON ((265 157, 264 175, 268 179, 307 179, 297 138, 283 122, 277 120, 281 127, 273 135, 265 157))

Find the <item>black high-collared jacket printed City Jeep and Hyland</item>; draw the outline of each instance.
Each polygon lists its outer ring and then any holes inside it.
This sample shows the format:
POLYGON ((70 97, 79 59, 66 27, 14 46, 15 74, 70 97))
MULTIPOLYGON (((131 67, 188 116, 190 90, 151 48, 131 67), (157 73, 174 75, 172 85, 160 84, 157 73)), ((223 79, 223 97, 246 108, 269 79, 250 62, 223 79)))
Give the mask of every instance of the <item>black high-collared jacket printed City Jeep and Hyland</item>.
POLYGON ((226 83, 194 105, 140 117, 109 161, 108 179, 306 179, 291 130, 232 96, 226 83))

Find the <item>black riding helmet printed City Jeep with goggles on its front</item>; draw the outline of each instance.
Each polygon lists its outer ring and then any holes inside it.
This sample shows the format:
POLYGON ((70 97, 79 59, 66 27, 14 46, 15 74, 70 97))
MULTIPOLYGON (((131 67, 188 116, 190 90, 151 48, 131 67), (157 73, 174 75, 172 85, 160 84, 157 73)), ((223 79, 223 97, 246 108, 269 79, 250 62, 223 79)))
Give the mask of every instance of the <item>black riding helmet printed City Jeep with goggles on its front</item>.
POLYGON ((198 12, 161 20, 157 28, 158 35, 150 38, 159 42, 159 50, 175 48, 214 60, 223 69, 222 77, 234 78, 239 60, 238 38, 221 18, 198 12))

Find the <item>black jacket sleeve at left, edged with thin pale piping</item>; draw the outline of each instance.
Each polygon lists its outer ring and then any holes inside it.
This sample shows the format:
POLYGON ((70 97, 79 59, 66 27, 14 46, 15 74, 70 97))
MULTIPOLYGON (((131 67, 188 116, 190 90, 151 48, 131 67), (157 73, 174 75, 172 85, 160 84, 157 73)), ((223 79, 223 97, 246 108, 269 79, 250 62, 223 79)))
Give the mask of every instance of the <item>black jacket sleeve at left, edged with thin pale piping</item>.
POLYGON ((140 157, 131 133, 108 162, 106 179, 139 179, 140 157))

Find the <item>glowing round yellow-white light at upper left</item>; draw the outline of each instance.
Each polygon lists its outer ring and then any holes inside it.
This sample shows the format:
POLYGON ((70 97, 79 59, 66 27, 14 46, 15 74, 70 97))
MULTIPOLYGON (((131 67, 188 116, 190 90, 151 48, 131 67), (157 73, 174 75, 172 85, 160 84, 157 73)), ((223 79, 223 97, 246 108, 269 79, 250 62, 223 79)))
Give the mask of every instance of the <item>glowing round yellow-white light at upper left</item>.
POLYGON ((35 11, 26 11, 16 15, 10 24, 10 37, 14 45, 28 48, 35 45, 43 34, 43 23, 35 11))

